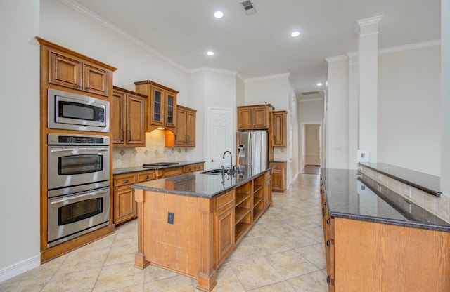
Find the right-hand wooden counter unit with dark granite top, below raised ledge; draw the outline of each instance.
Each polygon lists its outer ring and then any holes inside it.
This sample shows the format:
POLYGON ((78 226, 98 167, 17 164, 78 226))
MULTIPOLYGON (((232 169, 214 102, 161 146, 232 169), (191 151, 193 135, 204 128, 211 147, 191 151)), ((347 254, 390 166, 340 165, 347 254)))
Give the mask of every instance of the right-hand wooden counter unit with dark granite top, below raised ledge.
POLYGON ((329 291, 450 291, 450 223, 356 170, 321 195, 329 291))

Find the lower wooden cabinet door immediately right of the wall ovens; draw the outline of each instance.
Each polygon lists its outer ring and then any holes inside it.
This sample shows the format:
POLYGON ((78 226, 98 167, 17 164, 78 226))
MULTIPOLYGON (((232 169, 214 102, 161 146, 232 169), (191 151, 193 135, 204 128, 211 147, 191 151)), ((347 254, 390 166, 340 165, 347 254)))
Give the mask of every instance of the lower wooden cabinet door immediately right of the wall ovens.
POLYGON ((131 218, 135 218, 136 201, 131 187, 122 187, 114 190, 114 223, 122 223, 131 218))

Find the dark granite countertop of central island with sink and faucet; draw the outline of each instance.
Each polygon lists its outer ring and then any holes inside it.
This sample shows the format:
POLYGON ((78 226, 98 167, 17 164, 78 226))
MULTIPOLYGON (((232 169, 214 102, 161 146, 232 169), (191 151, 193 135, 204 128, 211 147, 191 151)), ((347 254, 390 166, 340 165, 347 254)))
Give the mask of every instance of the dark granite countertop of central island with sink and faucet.
MULTIPOLYGON (((268 168, 270 169, 270 168, 268 168)), ((264 171, 252 171, 240 166, 240 169, 229 174, 204 174, 204 171, 176 175, 159 180, 150 180, 144 183, 131 185, 134 189, 183 194, 187 196, 212 198, 233 187, 247 183, 264 171)))

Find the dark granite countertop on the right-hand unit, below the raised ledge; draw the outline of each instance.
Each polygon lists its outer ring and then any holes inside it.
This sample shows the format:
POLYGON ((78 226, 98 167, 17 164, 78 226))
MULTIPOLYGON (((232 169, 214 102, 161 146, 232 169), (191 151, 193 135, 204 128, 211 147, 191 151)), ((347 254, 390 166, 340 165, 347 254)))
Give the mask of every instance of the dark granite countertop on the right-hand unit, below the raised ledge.
POLYGON ((450 232, 450 223, 356 170, 322 168, 321 174, 331 216, 450 232))

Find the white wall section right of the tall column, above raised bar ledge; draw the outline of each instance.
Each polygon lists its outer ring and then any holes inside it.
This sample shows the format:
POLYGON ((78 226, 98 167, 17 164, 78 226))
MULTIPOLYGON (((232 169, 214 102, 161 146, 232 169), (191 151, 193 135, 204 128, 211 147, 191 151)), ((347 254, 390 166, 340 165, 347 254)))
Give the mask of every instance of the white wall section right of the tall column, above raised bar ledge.
POLYGON ((378 56, 378 161, 440 175, 440 46, 378 56))

